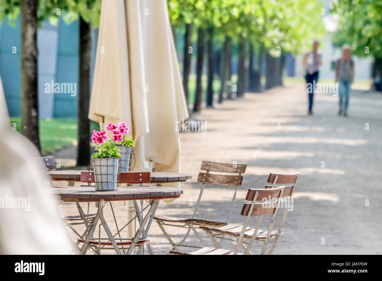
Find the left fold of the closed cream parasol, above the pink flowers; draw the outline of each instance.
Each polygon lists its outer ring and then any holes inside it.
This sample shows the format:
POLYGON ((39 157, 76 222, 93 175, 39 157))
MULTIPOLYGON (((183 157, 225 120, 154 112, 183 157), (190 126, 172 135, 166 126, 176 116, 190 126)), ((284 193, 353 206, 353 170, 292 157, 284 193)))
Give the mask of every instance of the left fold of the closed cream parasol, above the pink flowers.
POLYGON ((149 132, 139 1, 102 1, 89 119, 149 132), (133 121, 134 120, 134 121, 133 121))

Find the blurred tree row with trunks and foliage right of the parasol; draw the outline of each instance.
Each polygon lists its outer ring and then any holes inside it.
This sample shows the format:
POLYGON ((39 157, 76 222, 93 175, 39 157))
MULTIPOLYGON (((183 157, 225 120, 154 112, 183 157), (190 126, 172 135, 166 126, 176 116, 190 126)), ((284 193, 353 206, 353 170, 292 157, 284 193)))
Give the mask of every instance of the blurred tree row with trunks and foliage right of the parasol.
MULTIPOLYGON (((193 112, 201 110, 202 70, 207 51, 206 105, 213 106, 214 46, 220 46, 220 91, 223 101, 226 85, 231 83, 233 45, 238 45, 238 77, 232 88, 236 96, 244 91, 261 89, 261 63, 265 55, 265 89, 282 85, 285 54, 301 53, 313 39, 324 32, 322 5, 309 0, 168 0, 168 11, 173 29, 183 29, 183 87, 189 98, 188 83, 191 67, 190 47, 193 34, 197 37, 196 92, 193 112), (258 65, 253 65, 254 56, 258 65), (276 57, 280 63, 276 64, 276 57), (245 61, 249 60, 248 71, 245 61), (246 75, 248 73, 248 89, 246 75)), ((232 88, 227 97, 232 97, 232 88)))

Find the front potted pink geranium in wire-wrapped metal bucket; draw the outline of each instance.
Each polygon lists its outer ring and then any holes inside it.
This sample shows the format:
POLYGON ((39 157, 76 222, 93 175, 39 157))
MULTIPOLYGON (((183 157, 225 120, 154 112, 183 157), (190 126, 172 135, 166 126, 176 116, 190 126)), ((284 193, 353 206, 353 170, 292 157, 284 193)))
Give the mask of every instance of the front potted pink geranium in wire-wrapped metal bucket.
POLYGON ((91 158, 95 190, 118 190, 121 154, 117 144, 123 139, 123 135, 116 132, 110 140, 106 130, 94 130, 91 139, 97 144, 95 150, 98 151, 91 158))

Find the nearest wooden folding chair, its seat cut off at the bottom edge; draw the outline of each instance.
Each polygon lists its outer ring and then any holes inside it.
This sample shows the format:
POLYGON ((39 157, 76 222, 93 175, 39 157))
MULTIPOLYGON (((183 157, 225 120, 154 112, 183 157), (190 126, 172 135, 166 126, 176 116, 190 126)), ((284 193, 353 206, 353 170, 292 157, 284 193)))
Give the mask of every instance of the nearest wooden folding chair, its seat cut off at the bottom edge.
MULTIPOLYGON (((214 248, 207 248, 204 247, 200 249, 199 251, 192 252, 192 253, 184 253, 184 252, 175 252, 170 251, 170 253, 175 255, 237 255, 239 254, 239 249, 242 247, 244 249, 244 255, 250 253, 249 250, 251 249, 252 243, 255 239, 262 240, 264 242, 263 249, 261 254, 264 254, 267 245, 269 242, 269 239, 271 237, 275 237, 277 233, 272 231, 272 228, 274 226, 274 219, 277 213, 278 209, 278 202, 279 199, 283 196, 285 187, 274 187, 274 188, 267 188, 267 189, 249 189, 247 193, 247 200, 251 200, 251 203, 244 203, 243 209, 241 210, 241 215, 246 216, 246 219, 244 221, 243 226, 240 226, 241 231, 230 231, 225 230, 224 227, 219 228, 210 228, 201 226, 199 228, 205 230, 207 234, 210 236, 212 242, 214 242, 217 249, 214 248), (262 201, 262 202, 260 202, 262 201), (257 224, 255 229, 251 229, 248 227, 249 219, 251 216, 258 216, 259 219, 257 220, 257 224), (272 219, 269 223, 268 231, 264 232, 260 229, 262 220, 264 216, 272 216, 272 219), (235 247, 235 251, 233 253, 230 253, 229 250, 220 249, 219 244, 217 244, 214 236, 212 236, 211 232, 220 232, 221 234, 228 234, 231 236, 239 237, 238 242, 235 247), (250 242, 248 242, 248 246, 246 247, 243 242, 243 238, 251 238, 250 242), (211 250, 212 249, 212 250, 211 250), (228 253, 227 253, 228 251, 228 253)), ((236 226, 236 229, 239 227, 236 226)), ((216 237, 216 236, 215 236, 216 237)), ((231 239, 228 239, 231 240, 231 239)))

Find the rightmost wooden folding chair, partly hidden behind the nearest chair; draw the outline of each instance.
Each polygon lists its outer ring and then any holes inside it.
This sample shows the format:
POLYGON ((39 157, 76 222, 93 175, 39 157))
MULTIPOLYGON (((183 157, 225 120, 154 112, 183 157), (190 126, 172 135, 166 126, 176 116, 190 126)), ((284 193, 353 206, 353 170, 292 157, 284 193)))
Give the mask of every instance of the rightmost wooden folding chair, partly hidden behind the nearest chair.
MULTIPOLYGON (((300 177, 300 173, 294 173, 294 174, 270 173, 267 182, 271 183, 272 185, 265 185, 265 188, 266 189, 275 188, 275 187, 279 187, 280 184, 282 184, 283 188, 284 188, 283 197, 285 197, 285 198, 289 197, 289 200, 291 201, 291 198, 293 196, 293 193, 295 192, 295 188, 296 188, 297 181, 298 181, 299 177, 300 177)), ((253 200, 254 193, 255 192, 251 191, 251 189, 248 190, 246 200, 250 200, 250 201, 253 200)), ((259 197, 257 197, 257 198, 259 198, 259 197)), ((286 199, 288 200, 288 198, 286 198, 286 199)), ((274 251, 276 244, 278 242, 278 239, 280 238, 280 234, 281 234, 282 228, 284 226, 287 214, 288 214, 288 208, 286 208, 286 206, 285 206, 285 211, 283 213, 280 225, 278 227, 278 231, 272 231, 270 234, 270 237, 273 239, 271 241, 271 243, 273 243, 273 245, 267 254, 271 254, 274 251)), ((253 236, 254 232, 250 229, 244 231, 243 236, 240 237, 241 233, 243 232, 243 226, 238 226, 235 224, 230 224, 228 226, 220 227, 220 228, 204 227, 204 226, 201 226, 199 228, 206 231, 207 235, 210 237, 210 239, 214 243, 215 247, 217 247, 217 248, 220 248, 220 247, 219 247, 219 244, 216 242, 215 238, 222 238, 221 237, 222 235, 239 237, 240 241, 242 241, 243 238, 252 239, 254 237, 253 236)), ((254 239, 256 239, 256 240, 265 239, 266 234, 268 234, 268 232, 259 232, 259 233, 257 233, 257 236, 254 239)), ((222 238, 222 239, 227 239, 227 238, 222 238)), ((227 239, 227 240, 231 240, 231 239, 227 239)), ((249 244, 249 248, 251 247, 252 243, 253 243, 253 241, 252 242, 243 241, 243 244, 249 244)), ((264 248, 264 251, 265 251, 265 249, 266 249, 266 247, 264 248)), ((249 249, 248 249, 248 251, 246 250, 246 253, 250 253, 249 249)), ((262 253, 262 254, 264 254, 264 253, 262 253)))

